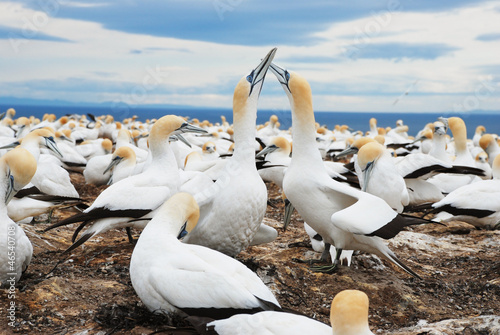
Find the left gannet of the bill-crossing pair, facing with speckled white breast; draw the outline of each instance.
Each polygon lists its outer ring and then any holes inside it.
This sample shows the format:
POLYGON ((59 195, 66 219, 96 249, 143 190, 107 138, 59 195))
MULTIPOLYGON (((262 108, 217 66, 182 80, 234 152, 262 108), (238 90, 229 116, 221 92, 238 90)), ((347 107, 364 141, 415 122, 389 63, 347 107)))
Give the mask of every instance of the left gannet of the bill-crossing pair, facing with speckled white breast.
MULTIPOLYGON (((272 49, 234 90, 234 154, 219 179, 195 198, 201 218, 185 243, 203 245, 236 256, 252 242, 267 208, 267 188, 255 166, 257 102, 267 69, 276 53, 272 49)), ((270 231, 268 227, 263 231, 270 231)), ((273 229, 269 240, 276 237, 273 229)), ((265 235, 265 234, 264 234, 265 235)), ((263 242, 259 236, 259 241, 263 242)), ((268 240, 268 241, 269 241, 268 240)))

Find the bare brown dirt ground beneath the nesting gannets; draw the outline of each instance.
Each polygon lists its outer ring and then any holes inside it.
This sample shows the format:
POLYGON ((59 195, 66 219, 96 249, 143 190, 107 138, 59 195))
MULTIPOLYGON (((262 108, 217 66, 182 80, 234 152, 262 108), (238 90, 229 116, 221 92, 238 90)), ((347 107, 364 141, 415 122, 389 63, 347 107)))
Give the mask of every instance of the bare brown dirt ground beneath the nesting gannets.
MULTIPOLYGON (((72 174, 72 180, 88 204, 103 190, 85 185, 79 174, 72 174)), ((500 334, 500 231, 453 222, 401 232, 389 246, 423 280, 362 253, 355 254, 351 267, 342 266, 332 275, 315 273, 293 260, 319 257, 311 249, 303 221, 294 214, 284 232, 278 190, 268 188, 276 208, 268 206, 266 223, 278 228, 279 236, 237 258, 257 272, 283 307, 329 323, 335 294, 359 289, 370 298, 370 327, 375 333, 500 334)), ((54 220, 60 220, 74 212, 54 214, 54 220)), ((76 226, 42 233, 45 227, 23 225, 34 247, 33 259, 16 290, 15 327, 5 325, 0 332, 168 334, 188 326, 178 317, 152 315, 136 296, 128 271, 133 245, 125 231, 107 232, 65 255, 62 251, 71 244, 76 226)), ((0 304, 8 306, 9 301, 2 292, 0 304)), ((2 307, 2 323, 6 313, 2 307)))

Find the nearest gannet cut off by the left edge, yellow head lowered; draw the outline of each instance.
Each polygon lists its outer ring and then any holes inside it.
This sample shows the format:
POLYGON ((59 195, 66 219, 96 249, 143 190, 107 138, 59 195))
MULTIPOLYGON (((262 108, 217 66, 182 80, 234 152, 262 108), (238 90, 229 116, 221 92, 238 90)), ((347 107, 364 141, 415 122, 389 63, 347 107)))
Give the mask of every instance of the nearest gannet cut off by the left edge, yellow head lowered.
POLYGON ((13 149, 0 158, 0 287, 15 285, 31 261, 33 246, 7 215, 7 204, 35 171, 36 159, 26 149, 13 149))

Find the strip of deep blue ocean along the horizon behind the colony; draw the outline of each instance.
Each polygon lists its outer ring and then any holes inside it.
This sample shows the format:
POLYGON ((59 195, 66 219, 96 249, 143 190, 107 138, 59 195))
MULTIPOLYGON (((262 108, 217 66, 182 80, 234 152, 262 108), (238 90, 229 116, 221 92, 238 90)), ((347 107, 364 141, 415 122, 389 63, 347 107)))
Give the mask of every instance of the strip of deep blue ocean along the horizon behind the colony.
MULTIPOLYGON (((233 115, 231 109, 201 109, 201 108, 160 108, 149 106, 133 106, 126 108, 112 108, 111 106, 32 106, 32 105, 0 105, 0 111, 4 112, 7 108, 16 109, 16 117, 35 116, 42 118, 45 113, 53 113, 58 117, 66 114, 87 114, 93 115, 113 115, 116 121, 137 115, 139 120, 160 118, 167 114, 176 114, 208 120, 212 123, 220 122, 221 115, 224 115, 229 123, 232 123, 233 115)), ((261 124, 269 120, 271 115, 277 115, 281 123, 281 129, 288 129, 292 126, 292 117, 289 110, 259 110, 257 113, 257 123, 261 124)), ((482 113, 392 113, 392 112, 316 112, 316 122, 326 125, 333 129, 335 125, 346 124, 354 130, 366 132, 369 130, 369 120, 374 117, 377 119, 378 127, 395 127, 397 120, 403 120, 408 125, 409 135, 416 135, 427 123, 434 122, 438 117, 459 116, 467 125, 467 136, 472 138, 478 125, 486 127, 486 132, 500 134, 500 112, 482 113)), ((451 135, 451 134, 450 134, 451 135)))

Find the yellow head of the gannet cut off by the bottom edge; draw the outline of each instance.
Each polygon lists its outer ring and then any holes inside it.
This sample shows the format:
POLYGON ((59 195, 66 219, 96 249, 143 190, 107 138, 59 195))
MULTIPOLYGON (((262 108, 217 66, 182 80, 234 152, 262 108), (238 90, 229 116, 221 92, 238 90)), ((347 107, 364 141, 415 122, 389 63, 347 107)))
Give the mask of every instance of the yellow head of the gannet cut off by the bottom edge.
POLYGON ((368 326, 368 296, 358 290, 339 292, 332 301, 333 335, 373 335, 368 326))

